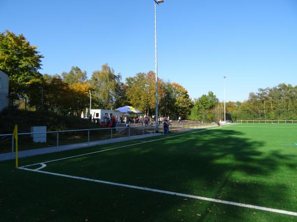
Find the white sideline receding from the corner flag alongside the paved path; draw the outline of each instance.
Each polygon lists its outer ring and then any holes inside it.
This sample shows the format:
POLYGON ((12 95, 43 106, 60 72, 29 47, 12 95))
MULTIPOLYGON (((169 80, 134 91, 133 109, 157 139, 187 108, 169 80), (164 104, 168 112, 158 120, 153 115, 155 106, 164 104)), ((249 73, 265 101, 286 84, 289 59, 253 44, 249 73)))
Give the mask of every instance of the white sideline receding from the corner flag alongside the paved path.
MULTIPOLYGON (((237 124, 239 124, 239 123, 236 123, 234 125, 237 125, 237 124)), ((231 125, 232 124, 227 125, 227 126, 231 126, 231 125)), ((144 141, 144 142, 140 142, 140 143, 136 143, 136 144, 129 144, 129 145, 121 146, 121 147, 115 147, 115 148, 110 148, 110 149, 103 149, 103 150, 94 151, 94 152, 88 152, 88 153, 83 153, 83 154, 75 155, 75 156, 68 156, 68 157, 64 157, 64 158, 60 158, 60 159, 54 159, 54 160, 49 160, 49 161, 45 161, 45 162, 41 162, 41 163, 34 163, 34 164, 22 166, 22 167, 29 167, 29 166, 34 166, 34 165, 38 165, 38 164, 50 163, 50 162, 54 162, 54 161, 59 161, 59 160, 70 159, 70 158, 79 157, 79 156, 90 155, 90 154, 93 154, 93 153, 105 152, 105 151, 109 151, 109 150, 113 150, 113 149, 120 149, 120 148, 125 148, 125 147, 131 147, 131 146, 134 146, 134 145, 145 144, 145 143, 159 141, 159 140, 165 140, 165 139, 169 139, 169 138, 173 138, 173 137, 180 137, 180 136, 184 136, 184 135, 188 135, 188 134, 204 132, 204 131, 207 131, 207 130, 221 129, 221 128, 224 128, 224 127, 227 127, 227 126, 217 127, 217 128, 212 128, 212 129, 199 130, 199 131, 194 131, 194 132, 191 132, 191 133, 185 133, 185 134, 181 134, 181 135, 169 136, 169 137, 165 137, 165 138, 161 138, 161 139, 149 140, 149 141, 144 141)))

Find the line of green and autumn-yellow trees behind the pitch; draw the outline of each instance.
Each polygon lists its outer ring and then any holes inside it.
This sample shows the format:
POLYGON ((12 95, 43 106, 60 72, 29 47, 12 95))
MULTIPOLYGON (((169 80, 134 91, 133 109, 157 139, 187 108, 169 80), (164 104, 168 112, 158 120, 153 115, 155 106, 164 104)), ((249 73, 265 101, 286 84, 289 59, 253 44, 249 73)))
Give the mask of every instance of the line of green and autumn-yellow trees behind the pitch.
MULTIPOLYGON (((9 74, 9 106, 49 110, 76 115, 90 106, 113 110, 133 106, 147 115, 155 113, 155 74, 137 73, 122 80, 121 74, 103 64, 88 79, 87 72, 73 66, 61 74, 40 74, 43 55, 22 35, 0 33, 0 69, 9 74)), ((212 91, 191 99, 175 82, 158 79, 160 116, 195 121, 224 119, 224 104, 212 91)), ((226 120, 297 119, 297 86, 279 84, 250 93, 244 102, 226 103, 226 120)))

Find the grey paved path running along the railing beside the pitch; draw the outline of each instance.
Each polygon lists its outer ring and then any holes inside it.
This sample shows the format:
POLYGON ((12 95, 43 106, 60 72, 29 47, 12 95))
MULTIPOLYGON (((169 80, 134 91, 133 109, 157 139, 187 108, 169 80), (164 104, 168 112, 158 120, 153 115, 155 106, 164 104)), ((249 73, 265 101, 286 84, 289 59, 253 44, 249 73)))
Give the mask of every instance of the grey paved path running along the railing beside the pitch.
MULTIPOLYGON (((111 144, 111 143, 117 143, 117 142, 128 141, 128 140, 154 137, 154 136, 159 136, 159 135, 163 135, 163 134, 152 133, 152 134, 144 134, 144 135, 139 135, 139 136, 130 136, 130 137, 108 139, 108 140, 99 140, 99 141, 94 141, 94 142, 90 142, 90 143, 63 145, 63 146, 59 146, 58 148, 57 147, 49 147, 49 148, 30 149, 30 150, 19 151, 18 157, 22 158, 22 157, 27 157, 27 156, 36 156, 36 155, 41 155, 41 154, 45 154, 45 153, 60 152, 60 151, 70 150, 70 149, 92 147, 92 146, 96 146, 96 145, 111 144)), ((8 152, 8 153, 0 154, 0 161, 9 160, 9 159, 15 159, 15 152, 13 152, 13 153, 8 152)))

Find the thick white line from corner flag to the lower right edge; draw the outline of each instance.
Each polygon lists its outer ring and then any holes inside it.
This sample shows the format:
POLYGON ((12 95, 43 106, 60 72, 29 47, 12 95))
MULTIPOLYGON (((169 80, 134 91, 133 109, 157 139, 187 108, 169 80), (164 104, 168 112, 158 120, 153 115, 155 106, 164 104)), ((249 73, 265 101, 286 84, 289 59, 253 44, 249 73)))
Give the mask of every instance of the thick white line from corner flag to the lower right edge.
POLYGON ((237 202, 232 202, 232 201, 219 200, 219 199, 213 199, 213 198, 201 197, 201 196, 195 196, 195 195, 190 195, 190 194, 185 194, 185 193, 177 193, 177 192, 166 191, 166 190, 161 190, 161 189, 153 189, 153 188, 148 188, 148 187, 143 187, 143 186, 118 184, 118 183, 95 180, 95 179, 84 178, 84 177, 76 177, 76 176, 70 176, 70 175, 65 175, 65 174, 51 173, 51 172, 47 172, 47 171, 32 170, 32 169, 28 169, 28 168, 24 168, 24 167, 19 167, 18 169, 28 170, 28 171, 33 171, 33 172, 38 172, 38 173, 43 173, 43 174, 49 174, 49 175, 54 175, 54 176, 59 176, 59 177, 67 177, 67 178, 72 178, 72 179, 78 179, 78 180, 83 180, 83 181, 91 181, 91 182, 96 182, 96 183, 100 183, 100 184, 116 185, 116 186, 122 186, 122 187, 127 187, 127 188, 147 190, 147 191, 151 191, 151 192, 157 192, 157 193, 164 193, 164 194, 175 195, 175 196, 194 198, 194 199, 205 200, 205 201, 210 201, 210 202, 216 202, 216 203, 221 203, 221 204, 234 205, 234 206, 238 206, 238 207, 251 208, 251 209, 256 209, 256 210, 261 210, 261 211, 269 211, 269 212, 274 212, 274 213, 278 213, 278 214, 287 214, 287 215, 297 216, 297 212, 292 212, 292 211, 284 211, 284 210, 278 210, 278 209, 274 209, 274 208, 260 207, 260 206, 250 205, 250 204, 243 204, 243 203, 237 203, 237 202))

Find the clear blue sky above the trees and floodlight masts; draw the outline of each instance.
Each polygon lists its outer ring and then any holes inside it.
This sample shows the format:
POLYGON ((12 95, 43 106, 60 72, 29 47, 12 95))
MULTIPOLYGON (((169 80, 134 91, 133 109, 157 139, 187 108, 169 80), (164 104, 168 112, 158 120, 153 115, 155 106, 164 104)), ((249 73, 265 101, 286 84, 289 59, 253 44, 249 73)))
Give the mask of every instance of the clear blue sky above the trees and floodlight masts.
MULTIPOLYGON (((0 0, 0 32, 23 34, 45 56, 41 73, 108 63, 123 80, 154 71, 153 0, 0 0)), ((297 85, 297 0, 165 0, 157 7, 158 76, 191 98, 223 101, 297 85)))

